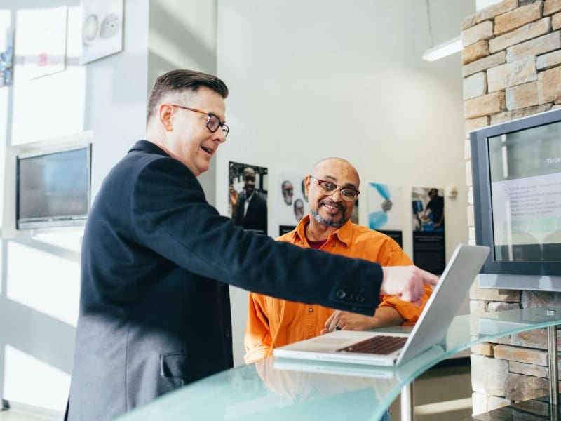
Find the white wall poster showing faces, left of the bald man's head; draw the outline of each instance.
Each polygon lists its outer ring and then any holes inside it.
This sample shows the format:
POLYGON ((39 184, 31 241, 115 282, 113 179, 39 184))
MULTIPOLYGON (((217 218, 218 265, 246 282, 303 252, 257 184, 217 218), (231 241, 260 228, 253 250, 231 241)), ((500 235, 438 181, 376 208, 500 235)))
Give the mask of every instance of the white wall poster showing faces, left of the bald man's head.
POLYGON ((299 220, 308 215, 308 198, 304 187, 305 173, 283 171, 278 175, 278 234, 295 229, 299 220))

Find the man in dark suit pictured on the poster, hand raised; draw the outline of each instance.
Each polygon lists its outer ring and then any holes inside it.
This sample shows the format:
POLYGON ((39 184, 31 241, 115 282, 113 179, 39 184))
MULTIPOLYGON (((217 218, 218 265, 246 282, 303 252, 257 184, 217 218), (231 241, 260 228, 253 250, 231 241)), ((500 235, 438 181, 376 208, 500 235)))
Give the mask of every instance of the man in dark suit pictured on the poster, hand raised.
POLYGON ((234 208, 234 222, 245 229, 253 229, 259 234, 267 233, 267 201, 264 194, 255 189, 255 170, 243 170, 243 191, 230 194, 234 208), (234 203, 236 201, 236 203, 234 203))

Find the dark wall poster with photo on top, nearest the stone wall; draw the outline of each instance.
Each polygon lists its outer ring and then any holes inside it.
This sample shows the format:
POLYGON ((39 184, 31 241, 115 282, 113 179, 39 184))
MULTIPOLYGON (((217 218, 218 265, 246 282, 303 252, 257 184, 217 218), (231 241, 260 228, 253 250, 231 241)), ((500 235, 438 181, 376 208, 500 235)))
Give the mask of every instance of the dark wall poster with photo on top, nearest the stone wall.
POLYGON ((446 266, 444 190, 413 187, 411 192, 413 262, 433 274, 446 266))

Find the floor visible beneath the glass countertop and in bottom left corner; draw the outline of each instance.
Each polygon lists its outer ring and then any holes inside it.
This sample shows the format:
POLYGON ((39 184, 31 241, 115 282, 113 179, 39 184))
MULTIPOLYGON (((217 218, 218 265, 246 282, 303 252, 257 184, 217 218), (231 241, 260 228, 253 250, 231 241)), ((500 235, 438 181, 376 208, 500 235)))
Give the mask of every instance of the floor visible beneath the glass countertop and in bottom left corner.
MULTIPOLYGON (((471 417, 471 368, 468 359, 436 366, 414 383, 415 421, 464 420, 471 417)), ((446 362, 446 361, 445 361, 446 362)), ((390 407, 392 421, 400 421, 400 400, 390 407)), ((0 421, 51 421, 18 410, 0 411, 0 421)))

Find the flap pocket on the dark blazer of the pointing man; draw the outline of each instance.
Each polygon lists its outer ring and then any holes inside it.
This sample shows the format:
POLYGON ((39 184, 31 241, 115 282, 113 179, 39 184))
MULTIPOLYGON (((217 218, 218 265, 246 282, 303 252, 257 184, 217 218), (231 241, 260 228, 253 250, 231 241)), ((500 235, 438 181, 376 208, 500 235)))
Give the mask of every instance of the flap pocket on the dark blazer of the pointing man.
POLYGON ((160 375, 168 379, 192 382, 217 373, 220 368, 217 359, 192 356, 183 353, 160 355, 160 375))

